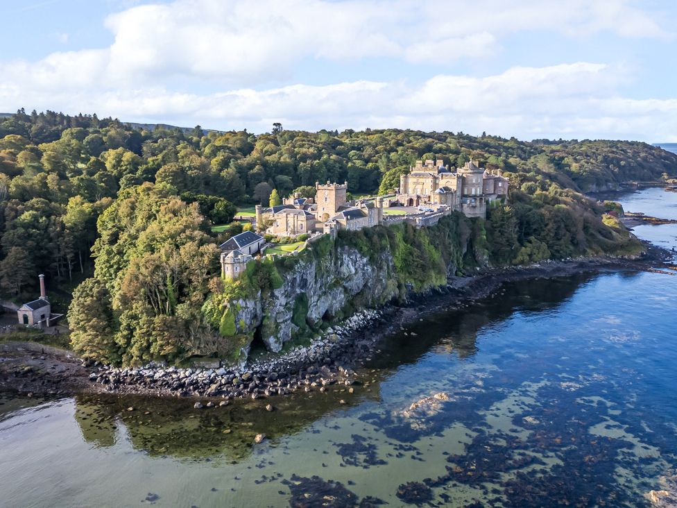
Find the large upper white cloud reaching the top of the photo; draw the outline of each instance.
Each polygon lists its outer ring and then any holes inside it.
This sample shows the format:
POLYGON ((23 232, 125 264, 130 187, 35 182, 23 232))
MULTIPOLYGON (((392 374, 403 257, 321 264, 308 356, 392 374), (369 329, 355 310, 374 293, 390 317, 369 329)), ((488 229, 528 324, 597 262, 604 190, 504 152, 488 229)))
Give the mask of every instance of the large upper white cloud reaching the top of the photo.
POLYGON ((101 85, 160 85, 180 77, 241 86, 289 79, 307 58, 434 65, 487 58, 521 31, 671 37, 627 0, 515 0, 509 7, 502 0, 175 0, 127 8, 105 26, 114 42, 95 50, 99 61, 83 61, 92 51, 85 49, 22 63, 44 69, 67 56, 101 85))

